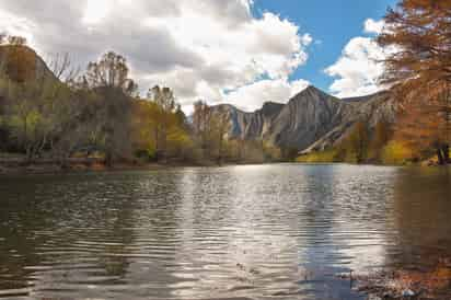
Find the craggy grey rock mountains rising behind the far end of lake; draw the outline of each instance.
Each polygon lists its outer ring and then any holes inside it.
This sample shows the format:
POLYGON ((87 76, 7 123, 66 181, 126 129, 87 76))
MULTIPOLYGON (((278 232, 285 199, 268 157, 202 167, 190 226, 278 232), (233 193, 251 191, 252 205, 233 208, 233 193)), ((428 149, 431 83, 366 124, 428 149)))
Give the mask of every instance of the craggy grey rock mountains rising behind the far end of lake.
POLYGON ((254 113, 232 105, 213 106, 231 122, 229 136, 265 140, 301 151, 323 150, 337 143, 359 120, 373 128, 380 120, 394 122, 395 105, 388 92, 358 99, 337 99, 309 86, 287 104, 265 103, 254 113))

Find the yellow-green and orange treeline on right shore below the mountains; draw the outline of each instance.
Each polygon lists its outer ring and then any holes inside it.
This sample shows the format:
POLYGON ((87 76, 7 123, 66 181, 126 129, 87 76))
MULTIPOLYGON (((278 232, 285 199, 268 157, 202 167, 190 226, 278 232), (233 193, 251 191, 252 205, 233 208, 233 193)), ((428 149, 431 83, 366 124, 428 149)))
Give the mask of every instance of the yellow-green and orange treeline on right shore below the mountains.
MULTIPOLYGON (((405 115, 398 116, 396 124, 380 120, 375 127, 366 120, 357 122, 343 140, 334 147, 320 152, 298 157, 303 163, 371 163, 371 164, 446 164, 451 162, 451 151, 447 143, 440 146, 424 131, 410 131, 405 115), (408 136, 407 136, 408 135, 408 136), (429 140, 429 142, 428 142, 429 140)), ((423 122, 423 120, 417 120, 423 122)), ((428 130, 424 128, 423 130, 428 130)), ((437 132, 437 131, 436 131, 437 132)))

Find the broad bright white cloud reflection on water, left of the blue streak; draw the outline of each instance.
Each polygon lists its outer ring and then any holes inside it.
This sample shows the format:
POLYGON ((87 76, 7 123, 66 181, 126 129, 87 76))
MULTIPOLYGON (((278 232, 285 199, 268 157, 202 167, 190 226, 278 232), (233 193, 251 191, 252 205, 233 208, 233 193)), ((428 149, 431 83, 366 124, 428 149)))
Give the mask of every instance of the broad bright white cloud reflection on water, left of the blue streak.
POLYGON ((276 199, 282 191, 276 183, 262 186, 258 181, 268 180, 265 169, 187 173, 180 185, 183 205, 177 219, 184 230, 178 235, 181 267, 174 275, 195 281, 176 289, 175 297, 248 297, 298 289, 299 246, 290 236, 297 223, 290 218, 277 221, 280 203, 276 199), (246 181, 240 181, 241 175, 246 181))

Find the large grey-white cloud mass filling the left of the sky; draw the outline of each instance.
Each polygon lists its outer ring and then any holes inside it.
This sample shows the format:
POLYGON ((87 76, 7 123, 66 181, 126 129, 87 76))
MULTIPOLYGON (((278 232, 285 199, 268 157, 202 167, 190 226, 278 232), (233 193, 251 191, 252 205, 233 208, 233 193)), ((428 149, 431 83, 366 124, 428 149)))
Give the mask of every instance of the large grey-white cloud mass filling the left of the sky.
POLYGON ((243 95, 234 102, 253 107, 240 90, 262 78, 280 90, 294 85, 287 78, 305 64, 313 38, 271 12, 256 18, 251 10, 252 0, 0 0, 0 26, 26 36, 42 55, 70 53, 81 66, 115 50, 141 89, 171 86, 185 106, 223 102, 234 91, 243 95))

